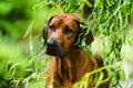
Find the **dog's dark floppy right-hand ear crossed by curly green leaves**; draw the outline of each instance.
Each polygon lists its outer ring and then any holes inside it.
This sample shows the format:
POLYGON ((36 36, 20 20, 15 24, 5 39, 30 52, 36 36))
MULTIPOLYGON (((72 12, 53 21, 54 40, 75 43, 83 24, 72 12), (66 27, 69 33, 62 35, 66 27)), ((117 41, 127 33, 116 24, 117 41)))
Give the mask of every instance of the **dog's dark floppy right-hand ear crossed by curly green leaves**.
POLYGON ((82 45, 83 40, 85 41, 85 44, 89 45, 94 41, 94 37, 88 29, 84 29, 85 25, 84 22, 78 21, 79 31, 75 37, 75 43, 79 45, 82 45))

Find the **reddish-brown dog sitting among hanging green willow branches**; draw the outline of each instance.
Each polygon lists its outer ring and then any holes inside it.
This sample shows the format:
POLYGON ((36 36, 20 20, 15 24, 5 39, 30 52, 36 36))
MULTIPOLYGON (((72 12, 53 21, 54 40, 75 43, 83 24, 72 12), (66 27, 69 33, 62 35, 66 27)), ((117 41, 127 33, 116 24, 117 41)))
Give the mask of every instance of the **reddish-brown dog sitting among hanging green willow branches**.
MULTIPOLYGON (((79 46, 83 38, 86 45, 94 41, 92 33, 82 29, 83 25, 84 22, 75 15, 62 13, 51 16, 44 26, 45 53, 52 56, 45 88, 49 88, 51 81, 52 88, 72 88, 86 73, 103 66, 101 56, 96 55, 96 59, 93 59, 79 46)), ((104 78, 108 77, 106 70, 103 73, 104 78)), ((92 77, 95 78, 94 75, 92 77)), ((89 82, 88 88, 94 88, 94 84, 89 82)), ((109 88, 108 81, 99 88, 109 88)))

